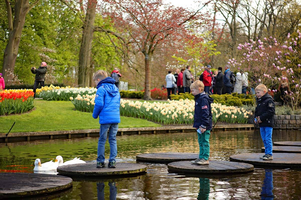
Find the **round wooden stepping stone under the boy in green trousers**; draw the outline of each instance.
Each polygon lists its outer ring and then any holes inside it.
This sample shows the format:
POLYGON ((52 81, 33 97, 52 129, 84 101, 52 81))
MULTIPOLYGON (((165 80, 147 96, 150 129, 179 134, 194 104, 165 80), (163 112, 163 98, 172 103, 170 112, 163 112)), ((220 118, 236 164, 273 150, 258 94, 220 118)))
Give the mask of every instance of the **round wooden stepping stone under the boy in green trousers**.
POLYGON ((186 173, 239 173, 250 172, 254 166, 247 163, 236 163, 223 160, 209 160, 209 165, 192 164, 190 161, 173 162, 167 165, 168 169, 175 172, 186 173))

